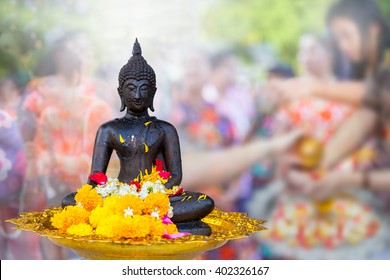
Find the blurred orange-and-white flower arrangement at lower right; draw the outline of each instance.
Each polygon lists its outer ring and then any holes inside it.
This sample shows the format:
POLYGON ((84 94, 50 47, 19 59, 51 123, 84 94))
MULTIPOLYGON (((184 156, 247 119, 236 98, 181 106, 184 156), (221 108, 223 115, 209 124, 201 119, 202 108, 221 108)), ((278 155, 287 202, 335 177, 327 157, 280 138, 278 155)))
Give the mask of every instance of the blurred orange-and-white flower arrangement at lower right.
POLYGON ((356 245, 378 233, 374 210, 352 197, 324 202, 281 202, 262 237, 306 249, 356 245))

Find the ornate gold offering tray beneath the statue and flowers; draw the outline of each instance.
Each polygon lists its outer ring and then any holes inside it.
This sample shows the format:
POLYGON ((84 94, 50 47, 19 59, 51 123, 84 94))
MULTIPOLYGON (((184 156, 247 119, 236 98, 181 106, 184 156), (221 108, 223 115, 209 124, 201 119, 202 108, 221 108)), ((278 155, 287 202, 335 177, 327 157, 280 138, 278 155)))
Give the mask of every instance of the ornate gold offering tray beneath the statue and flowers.
POLYGON ((8 220, 17 230, 35 232, 53 243, 72 249, 87 259, 193 259, 203 252, 223 246, 227 241, 241 239, 265 229, 263 220, 251 219, 245 213, 214 209, 202 221, 212 228, 211 236, 188 235, 177 239, 108 239, 97 235, 75 237, 60 233, 51 226, 50 218, 61 208, 44 212, 22 213, 8 220))

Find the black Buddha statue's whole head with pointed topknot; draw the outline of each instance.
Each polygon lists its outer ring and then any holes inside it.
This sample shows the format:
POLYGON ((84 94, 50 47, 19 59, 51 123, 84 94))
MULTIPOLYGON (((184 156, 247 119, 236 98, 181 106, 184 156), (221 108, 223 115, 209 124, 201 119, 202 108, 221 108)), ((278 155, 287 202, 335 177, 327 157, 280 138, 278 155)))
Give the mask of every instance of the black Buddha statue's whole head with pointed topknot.
POLYGON ((118 93, 121 98, 121 112, 127 109, 136 115, 154 111, 156 75, 153 68, 142 56, 141 46, 135 39, 133 56, 119 72, 118 93))

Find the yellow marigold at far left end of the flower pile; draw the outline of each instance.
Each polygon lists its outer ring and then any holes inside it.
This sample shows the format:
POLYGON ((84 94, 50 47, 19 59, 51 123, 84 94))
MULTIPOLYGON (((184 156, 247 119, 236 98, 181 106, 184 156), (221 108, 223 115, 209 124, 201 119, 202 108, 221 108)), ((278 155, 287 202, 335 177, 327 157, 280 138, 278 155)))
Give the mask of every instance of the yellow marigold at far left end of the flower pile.
POLYGON ((50 221, 53 227, 66 231, 72 225, 88 223, 89 214, 83 207, 67 206, 64 210, 55 214, 50 221))

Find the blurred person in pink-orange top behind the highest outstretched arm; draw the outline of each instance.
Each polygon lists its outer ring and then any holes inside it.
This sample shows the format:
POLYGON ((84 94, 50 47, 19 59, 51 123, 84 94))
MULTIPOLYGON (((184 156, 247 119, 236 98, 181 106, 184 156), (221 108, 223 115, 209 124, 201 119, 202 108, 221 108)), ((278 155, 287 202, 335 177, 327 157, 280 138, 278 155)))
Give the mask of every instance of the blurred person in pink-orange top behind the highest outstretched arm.
MULTIPOLYGON (((336 80, 332 72, 332 49, 326 39, 315 34, 303 35, 299 41, 297 60, 301 78, 314 78, 324 83, 333 83, 336 80)), ((282 106, 276 119, 279 125, 285 128, 311 128, 312 136, 326 142, 351 114, 352 109, 351 106, 308 96, 282 106)))

